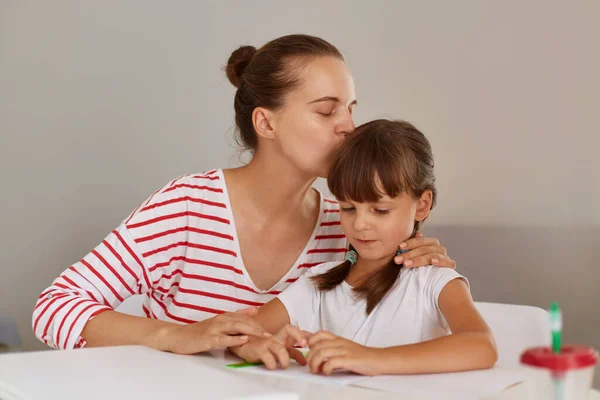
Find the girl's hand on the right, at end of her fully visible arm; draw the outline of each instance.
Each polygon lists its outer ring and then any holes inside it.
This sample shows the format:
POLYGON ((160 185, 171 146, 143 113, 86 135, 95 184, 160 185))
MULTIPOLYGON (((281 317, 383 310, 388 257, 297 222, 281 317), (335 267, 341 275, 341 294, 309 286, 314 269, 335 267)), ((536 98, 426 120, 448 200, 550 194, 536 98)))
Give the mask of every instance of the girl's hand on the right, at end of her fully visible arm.
POLYGON ((331 375, 336 369, 345 369, 360 375, 380 375, 381 349, 361 346, 331 332, 320 331, 308 341, 310 348, 306 361, 313 374, 331 375))

